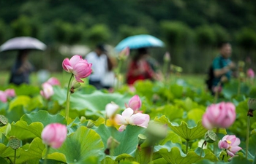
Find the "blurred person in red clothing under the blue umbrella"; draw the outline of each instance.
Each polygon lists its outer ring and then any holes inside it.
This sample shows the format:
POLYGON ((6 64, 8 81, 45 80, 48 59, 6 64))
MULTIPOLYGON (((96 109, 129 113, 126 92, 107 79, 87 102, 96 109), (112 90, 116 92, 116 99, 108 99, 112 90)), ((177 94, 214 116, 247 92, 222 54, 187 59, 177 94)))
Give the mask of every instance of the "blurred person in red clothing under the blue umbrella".
POLYGON ((138 80, 157 79, 157 74, 148 63, 148 51, 146 48, 138 49, 137 54, 129 63, 127 71, 127 84, 133 85, 138 80))

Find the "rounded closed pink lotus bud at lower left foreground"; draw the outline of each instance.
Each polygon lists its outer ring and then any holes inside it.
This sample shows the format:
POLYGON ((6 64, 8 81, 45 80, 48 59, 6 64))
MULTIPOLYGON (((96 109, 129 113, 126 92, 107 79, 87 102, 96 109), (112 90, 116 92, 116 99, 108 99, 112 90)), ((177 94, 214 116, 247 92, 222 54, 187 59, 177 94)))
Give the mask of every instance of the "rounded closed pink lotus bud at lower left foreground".
POLYGON ((41 137, 43 143, 57 149, 67 138, 67 128, 59 123, 49 124, 42 130, 41 137))

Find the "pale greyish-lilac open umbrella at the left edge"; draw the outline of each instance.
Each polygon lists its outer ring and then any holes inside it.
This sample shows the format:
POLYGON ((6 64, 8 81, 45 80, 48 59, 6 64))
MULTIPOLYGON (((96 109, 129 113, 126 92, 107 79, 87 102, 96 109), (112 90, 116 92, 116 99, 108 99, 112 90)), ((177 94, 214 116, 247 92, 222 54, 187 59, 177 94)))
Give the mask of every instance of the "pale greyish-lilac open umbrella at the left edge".
POLYGON ((38 39, 29 36, 20 36, 7 40, 7 42, 1 45, 0 52, 7 50, 45 50, 46 47, 38 39))

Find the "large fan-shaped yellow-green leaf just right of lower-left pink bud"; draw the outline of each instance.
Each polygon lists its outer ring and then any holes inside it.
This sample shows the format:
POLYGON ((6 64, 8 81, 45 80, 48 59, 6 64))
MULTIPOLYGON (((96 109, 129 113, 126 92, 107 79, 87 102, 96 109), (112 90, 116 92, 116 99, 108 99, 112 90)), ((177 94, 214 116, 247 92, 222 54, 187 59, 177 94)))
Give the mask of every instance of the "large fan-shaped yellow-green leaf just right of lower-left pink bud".
MULTIPOLYGON (((82 163, 91 157, 100 157, 104 148, 102 140, 94 130, 81 126, 75 133, 67 136, 59 149, 50 149, 48 159, 64 163, 82 163)), ((45 157, 45 151, 43 152, 45 157)))

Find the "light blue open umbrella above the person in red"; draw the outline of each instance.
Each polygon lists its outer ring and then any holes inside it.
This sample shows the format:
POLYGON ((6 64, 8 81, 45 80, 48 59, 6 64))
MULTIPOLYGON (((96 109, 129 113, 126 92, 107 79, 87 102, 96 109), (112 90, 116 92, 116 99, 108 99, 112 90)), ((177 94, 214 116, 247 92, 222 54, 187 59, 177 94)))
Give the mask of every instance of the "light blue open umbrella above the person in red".
POLYGON ((160 39, 154 36, 141 34, 135 36, 129 36, 123 39, 115 47, 116 51, 124 50, 124 48, 129 47, 130 49, 138 49, 143 47, 164 47, 165 44, 160 39))

